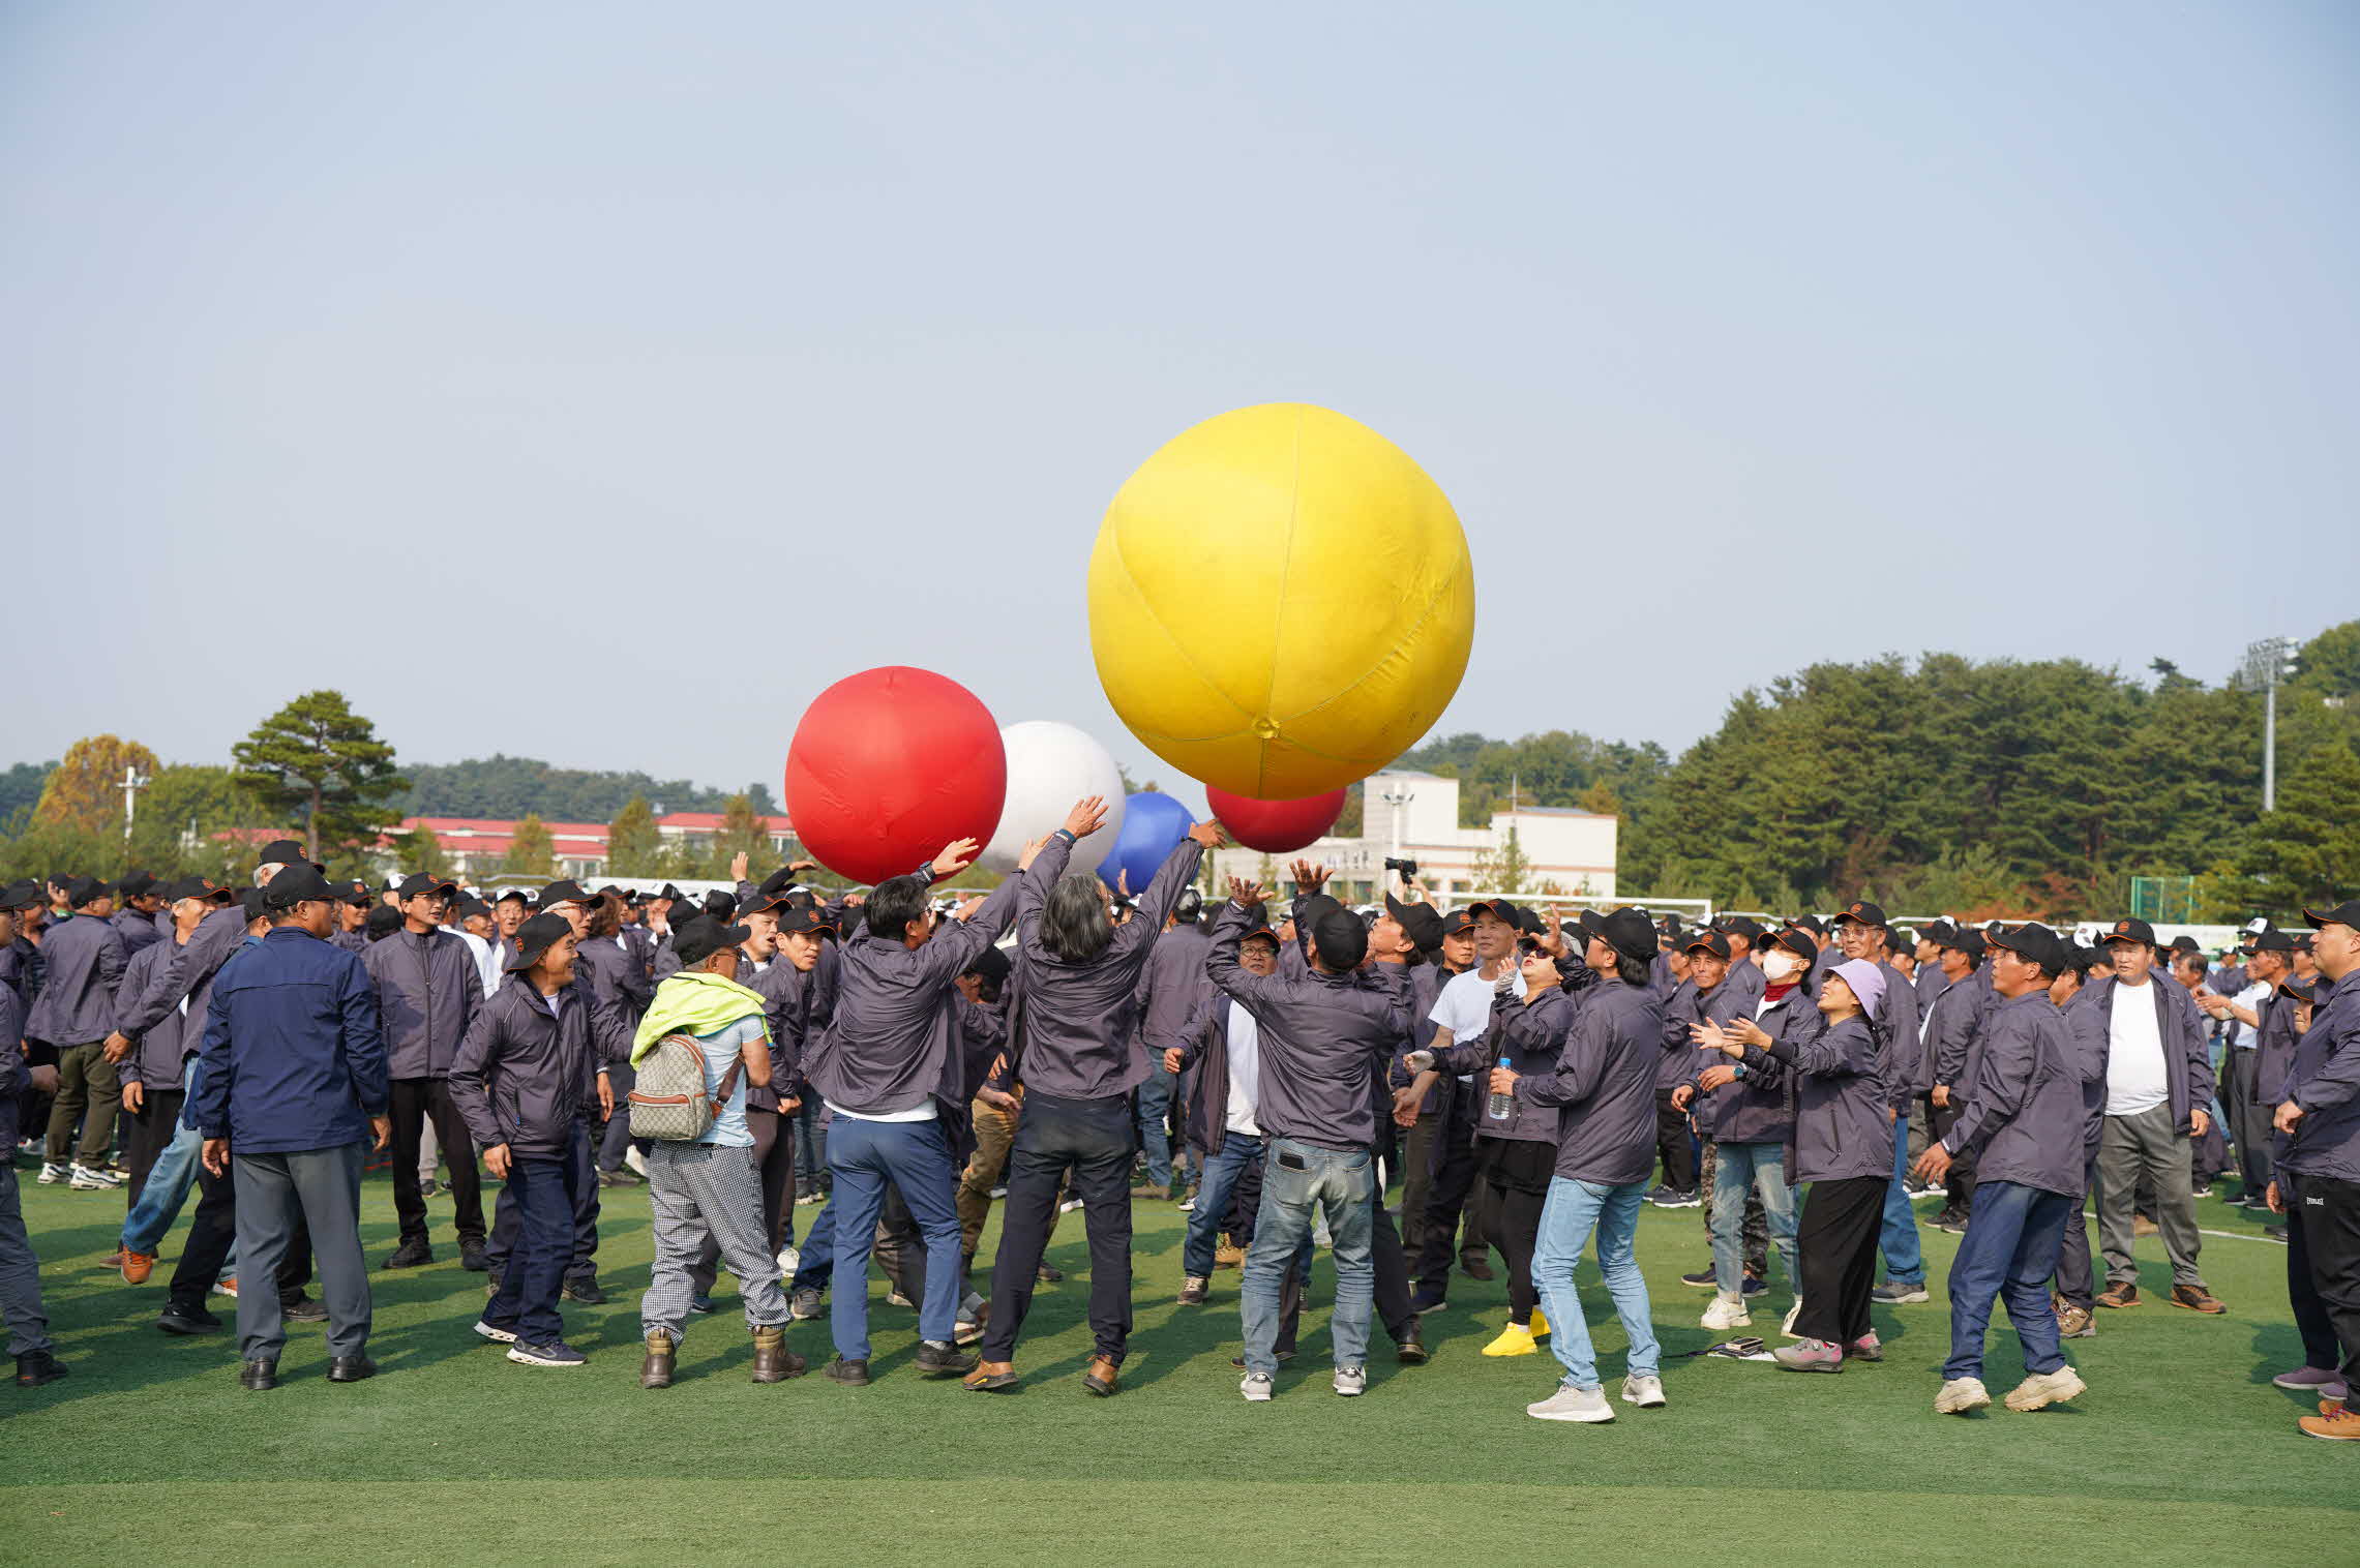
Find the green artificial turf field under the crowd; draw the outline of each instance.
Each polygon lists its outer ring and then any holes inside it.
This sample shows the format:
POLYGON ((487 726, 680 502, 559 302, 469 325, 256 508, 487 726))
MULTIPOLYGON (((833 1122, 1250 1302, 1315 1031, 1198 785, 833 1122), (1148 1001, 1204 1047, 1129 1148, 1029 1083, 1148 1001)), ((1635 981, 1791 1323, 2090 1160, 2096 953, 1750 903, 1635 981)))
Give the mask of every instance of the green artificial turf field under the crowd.
MULTIPOLYGON (((245 1394, 231 1332, 170 1339, 151 1325, 186 1221, 135 1290, 104 1266, 120 1195, 31 1177, 26 1221, 73 1375, 7 1396, 0 1561, 2360 1561, 2360 1448, 2299 1436, 2308 1405, 2268 1382, 2301 1361, 2287 1254, 2244 1240, 2261 1226, 2218 1200, 2200 1224, 2240 1233, 2204 1240, 2228 1318, 2164 1306, 2162 1247, 2141 1240, 2148 1304, 2100 1313, 2100 1337, 2070 1346, 2091 1391, 2074 1408, 1968 1419, 1930 1408, 1954 1238, 1923 1228, 1930 1304, 1876 1311, 1883 1365, 1798 1377, 1680 1358, 1718 1337, 1694 1325, 1706 1292, 1678 1283, 1704 1259, 1702 1221, 1650 1210, 1640 1261, 1671 1408, 1565 1427, 1522 1412, 1555 1382, 1546 1349, 1477 1356, 1506 1294, 1468 1278, 1428 1318, 1430 1365, 1395 1365, 1378 1332, 1366 1398, 1336 1398, 1326 1259, 1303 1356, 1274 1403, 1246 1405, 1227 1361, 1237 1271, 1215 1276, 1208 1306, 1175 1306, 1182 1217, 1147 1200, 1114 1401, 1079 1379, 1079 1214, 1050 1250, 1067 1280, 1034 1299, 1017 1394, 918 1379, 913 1313, 885 1306, 876 1283, 868 1389, 817 1377, 826 1320, 788 1332, 814 1375, 746 1382, 725 1283, 682 1346, 680 1382, 644 1394, 642 1188, 607 1193, 611 1302, 566 1304, 590 1365, 519 1368, 470 1332, 481 1276, 458 1269, 441 1198, 441 1261, 373 1278, 382 1372, 328 1384, 321 1330, 297 1325, 281 1386, 245 1394)), ((394 1238, 382 1172, 363 1210, 375 1261, 394 1238)), ((814 1214, 798 1210, 798 1231, 814 1214)), ((1772 1285, 1777 1309, 1758 1306, 1751 1332, 1775 1337, 1784 1299, 1772 1285)), ((1624 1337, 1593 1264, 1584 1302, 1614 1389, 1624 1337)), ((231 1302, 215 1306, 231 1316, 231 1302)), ((2023 1365, 2004 1327, 1992 1344, 1997 1396, 2023 1365)))

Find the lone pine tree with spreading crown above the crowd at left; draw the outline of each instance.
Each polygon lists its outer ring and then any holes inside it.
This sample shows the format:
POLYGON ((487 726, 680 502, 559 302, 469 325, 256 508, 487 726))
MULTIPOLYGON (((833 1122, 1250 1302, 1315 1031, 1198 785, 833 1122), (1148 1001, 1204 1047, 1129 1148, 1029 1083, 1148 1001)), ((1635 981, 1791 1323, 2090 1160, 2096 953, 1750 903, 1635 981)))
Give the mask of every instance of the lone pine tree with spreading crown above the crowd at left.
POLYGON ((302 821, 304 851, 354 861, 401 818, 394 799, 408 780, 394 747, 352 712, 342 691, 307 691, 231 747, 241 783, 264 806, 302 821))

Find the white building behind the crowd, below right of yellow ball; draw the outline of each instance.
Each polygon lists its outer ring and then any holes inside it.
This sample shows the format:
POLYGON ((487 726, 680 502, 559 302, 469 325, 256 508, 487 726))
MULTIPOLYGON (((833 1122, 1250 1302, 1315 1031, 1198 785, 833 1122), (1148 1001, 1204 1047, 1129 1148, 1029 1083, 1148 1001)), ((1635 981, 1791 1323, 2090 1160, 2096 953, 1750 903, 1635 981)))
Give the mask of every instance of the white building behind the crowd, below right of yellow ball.
MULTIPOLYGON (((1385 861, 1416 861, 1418 879, 1437 908, 1463 903, 1466 894, 1558 896, 1567 903, 1614 898, 1614 816, 1567 806, 1517 806, 1494 811, 1487 828, 1458 825, 1458 780, 1440 773, 1388 769, 1362 783, 1362 837, 1319 839, 1291 856, 1270 856, 1284 884, 1289 861, 1319 861, 1333 872, 1329 891, 1348 903, 1374 903, 1385 889, 1385 861), (1508 828, 1527 861, 1517 889, 1480 882, 1477 861, 1499 863, 1508 828)), ((1253 877, 1263 868, 1258 849, 1222 849, 1215 887, 1227 877, 1253 877)))

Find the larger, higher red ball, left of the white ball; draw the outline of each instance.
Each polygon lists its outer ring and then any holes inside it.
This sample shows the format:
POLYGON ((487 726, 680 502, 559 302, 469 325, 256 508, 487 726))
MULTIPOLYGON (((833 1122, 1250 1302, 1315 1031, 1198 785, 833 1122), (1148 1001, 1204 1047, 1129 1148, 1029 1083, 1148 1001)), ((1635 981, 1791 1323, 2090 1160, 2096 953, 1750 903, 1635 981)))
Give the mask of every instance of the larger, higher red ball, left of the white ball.
POLYGON ((786 813, 812 858, 883 882, 991 837, 1008 747, 991 710, 932 670, 885 665, 835 681, 786 747, 786 813))

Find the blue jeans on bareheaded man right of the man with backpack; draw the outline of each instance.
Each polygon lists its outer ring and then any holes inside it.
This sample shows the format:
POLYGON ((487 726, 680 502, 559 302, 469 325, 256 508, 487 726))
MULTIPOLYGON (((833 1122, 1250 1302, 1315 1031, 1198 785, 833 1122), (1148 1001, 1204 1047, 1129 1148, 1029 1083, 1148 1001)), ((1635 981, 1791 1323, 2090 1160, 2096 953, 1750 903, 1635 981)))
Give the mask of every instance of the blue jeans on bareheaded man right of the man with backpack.
POLYGON ((835 1177, 828 1212, 843 1210, 835 1214, 835 1273, 845 1285, 828 1302, 835 1353, 845 1361, 868 1361, 868 1252, 876 1247, 887 1181, 902 1188, 902 1203, 925 1238, 918 1337, 951 1344, 951 1335, 958 1332, 961 1290, 958 1210, 951 1203, 958 1167, 951 1162, 942 1120, 864 1122, 838 1115, 828 1127, 828 1172, 835 1177))

